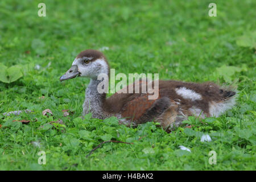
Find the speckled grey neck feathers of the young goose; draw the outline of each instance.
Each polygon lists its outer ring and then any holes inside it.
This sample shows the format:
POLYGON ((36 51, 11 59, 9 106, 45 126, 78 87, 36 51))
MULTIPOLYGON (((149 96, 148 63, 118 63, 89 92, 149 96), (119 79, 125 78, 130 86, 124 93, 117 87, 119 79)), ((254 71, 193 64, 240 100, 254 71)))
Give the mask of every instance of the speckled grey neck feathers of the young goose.
POLYGON ((98 93, 97 86, 101 80, 90 79, 90 83, 85 90, 85 101, 82 105, 82 115, 92 113, 93 118, 104 119, 106 114, 103 109, 106 100, 105 93, 98 93))

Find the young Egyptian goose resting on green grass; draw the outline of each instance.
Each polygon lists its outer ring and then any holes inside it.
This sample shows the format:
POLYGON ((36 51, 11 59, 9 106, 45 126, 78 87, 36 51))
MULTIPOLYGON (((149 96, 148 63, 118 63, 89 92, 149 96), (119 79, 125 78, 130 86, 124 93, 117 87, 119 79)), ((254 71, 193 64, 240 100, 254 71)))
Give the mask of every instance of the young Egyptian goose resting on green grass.
MULTIPOLYGON (((115 116, 119 123, 127 126, 156 121, 164 129, 172 129, 180 126, 189 115, 200 118, 218 117, 235 104, 236 92, 221 89, 212 82, 199 84, 172 80, 159 81, 158 98, 155 100, 148 99, 148 92, 118 92, 106 98, 106 93, 99 93, 97 90, 102 82, 97 77, 101 73, 109 76, 109 70, 106 57, 99 51, 88 49, 79 53, 72 67, 60 77, 60 81, 77 76, 90 78, 82 115, 92 113, 93 118, 99 119, 115 116)), ((148 84, 147 81, 144 82, 148 84)), ((137 82, 140 91, 144 82, 137 82)))

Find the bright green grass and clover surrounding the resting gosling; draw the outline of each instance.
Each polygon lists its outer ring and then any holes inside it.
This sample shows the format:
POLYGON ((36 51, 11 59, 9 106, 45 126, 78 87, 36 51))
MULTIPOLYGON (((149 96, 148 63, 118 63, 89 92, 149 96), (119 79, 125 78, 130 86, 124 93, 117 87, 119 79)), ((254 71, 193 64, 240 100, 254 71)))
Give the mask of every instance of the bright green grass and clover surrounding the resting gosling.
POLYGON ((44 1, 46 17, 38 16, 39 2, 0 1, 0 63, 18 64, 24 72, 10 84, 0 81, 0 113, 34 111, 0 114, 1 170, 256 169, 256 56, 250 43, 255 45, 255 1, 44 1), (217 17, 208 16, 210 2, 217 4, 217 17), (82 120, 89 80, 60 82, 59 77, 80 51, 104 46, 116 74, 234 81, 237 106, 203 123, 191 117, 186 122, 195 125, 192 129, 179 127, 171 134, 152 122, 132 129, 115 118, 101 121, 86 115, 82 120), (43 116, 44 109, 51 109, 53 116, 43 116), (63 109, 74 114, 64 117, 63 109), (64 133, 46 124, 59 118, 67 126, 64 133), (22 125, 14 119, 33 122, 22 125), (203 133, 212 142, 200 142, 203 133), (134 144, 105 143, 86 158, 108 139, 134 144), (181 151, 180 145, 191 153, 181 151), (212 150, 216 165, 208 163, 212 150), (46 151, 46 165, 38 164, 39 151, 46 151))

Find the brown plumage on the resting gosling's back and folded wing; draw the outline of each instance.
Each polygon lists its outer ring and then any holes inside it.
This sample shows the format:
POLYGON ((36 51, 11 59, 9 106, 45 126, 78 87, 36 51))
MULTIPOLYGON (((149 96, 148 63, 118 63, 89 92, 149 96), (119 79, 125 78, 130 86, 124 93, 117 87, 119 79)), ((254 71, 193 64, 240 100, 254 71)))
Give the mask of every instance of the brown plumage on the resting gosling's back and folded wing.
MULTIPOLYGON (((141 83, 140 83, 141 86, 141 83)), ((128 90, 127 86, 127 90, 128 90)), ((122 117, 130 118, 137 123, 147 122, 148 119, 157 118, 170 106, 183 110, 184 114, 192 115, 188 110, 192 107, 199 108, 207 116, 210 116, 209 105, 211 102, 221 102, 234 96, 236 92, 220 89, 213 82, 202 84, 173 80, 159 81, 159 97, 157 100, 148 100, 148 93, 115 93, 106 100, 108 111, 121 112, 122 117), (176 93, 175 89, 186 88, 199 93, 201 100, 185 99, 176 93)))

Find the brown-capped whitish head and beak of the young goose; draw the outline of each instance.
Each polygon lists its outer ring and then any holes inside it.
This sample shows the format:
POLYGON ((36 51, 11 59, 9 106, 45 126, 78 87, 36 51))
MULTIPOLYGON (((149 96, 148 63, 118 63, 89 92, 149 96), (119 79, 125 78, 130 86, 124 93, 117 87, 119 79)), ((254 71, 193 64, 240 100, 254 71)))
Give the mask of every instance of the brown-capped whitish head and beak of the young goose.
POLYGON ((76 56, 71 68, 60 77, 60 81, 69 80, 77 76, 97 80, 98 75, 101 73, 109 75, 109 64, 106 57, 100 51, 87 49, 76 56))

